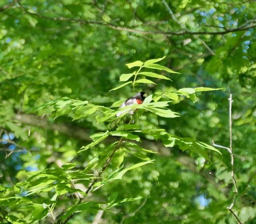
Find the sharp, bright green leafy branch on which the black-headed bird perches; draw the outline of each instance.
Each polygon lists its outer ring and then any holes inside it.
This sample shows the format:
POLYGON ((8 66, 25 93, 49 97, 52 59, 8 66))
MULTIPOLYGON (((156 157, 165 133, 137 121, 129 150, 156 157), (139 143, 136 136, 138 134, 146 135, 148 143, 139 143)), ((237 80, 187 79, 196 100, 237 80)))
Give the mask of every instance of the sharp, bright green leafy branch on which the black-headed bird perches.
MULTIPOLYGON (((150 85, 154 83, 153 81, 148 79, 148 77, 166 79, 168 81, 171 81, 170 78, 164 75, 160 75, 151 71, 142 71, 142 69, 156 69, 168 71, 170 73, 178 73, 172 71, 168 67, 165 67, 157 63, 158 61, 161 61, 164 58, 165 57, 151 59, 145 62, 135 61, 132 63, 128 63, 127 66, 129 69, 132 69, 134 67, 138 67, 138 69, 133 73, 122 74, 120 76, 120 81, 125 81, 125 83, 112 90, 120 89, 125 85, 132 84, 132 89, 133 91, 135 91, 136 85, 139 85, 140 83, 150 85), (133 81, 128 81, 132 77, 133 81), (138 77, 142 78, 137 79, 138 77)), ((150 113, 153 113, 160 117, 175 118, 179 117, 180 114, 169 109, 171 102, 178 102, 180 96, 185 96, 186 98, 190 98, 192 101, 195 101, 196 92, 212 90, 217 89, 197 87, 182 88, 172 92, 156 92, 146 97, 143 104, 135 104, 117 110, 111 109, 110 107, 104 107, 102 105, 94 105, 92 103, 89 103, 88 101, 80 101, 70 99, 68 97, 62 97, 61 99, 50 101, 41 105, 40 107, 34 108, 33 111, 37 111, 38 115, 50 115, 54 117, 54 119, 58 119, 58 117, 60 116, 67 115, 68 117, 71 117, 73 121, 76 119, 86 119, 87 117, 90 117, 90 119, 88 119, 89 121, 94 119, 94 121, 96 120, 98 123, 109 122, 113 117, 114 119, 116 119, 115 117, 117 113, 127 109, 140 109, 144 111, 149 111, 150 113), (168 100, 161 101, 162 98, 168 100)), ((114 103, 111 107, 118 107, 119 103, 122 102, 118 101, 117 103, 114 103)), ((22 116, 22 114, 18 115, 17 119, 19 116, 22 116)), ((126 116, 125 113, 122 116, 120 116, 120 118, 124 116, 126 116)), ((175 145, 178 145, 178 147, 180 147, 182 151, 189 149, 190 151, 198 155, 202 155, 208 161, 210 161, 210 156, 206 152, 206 149, 216 151, 219 153, 218 150, 216 150, 214 147, 210 145, 190 138, 180 138, 178 136, 168 133, 164 129, 141 129, 140 125, 132 124, 132 120, 133 115, 130 118, 128 124, 120 125, 119 127, 117 127, 115 131, 105 131, 90 135, 90 138, 93 140, 93 142, 83 146, 77 152, 79 154, 86 150, 97 149, 90 151, 90 153, 92 153, 93 155, 93 159, 88 161, 88 164, 84 168, 84 170, 73 170, 76 167, 76 164, 66 163, 62 165, 62 168, 55 168, 53 170, 46 169, 42 172, 32 174, 26 179, 26 181, 20 184, 26 196, 30 196, 32 194, 40 194, 41 192, 49 190, 55 190, 55 194, 52 197, 52 200, 45 202, 46 206, 42 206, 41 204, 34 205, 33 209, 35 210, 35 212, 32 212, 30 218, 31 222, 41 220, 45 218, 47 214, 50 213, 56 224, 65 224, 74 216, 75 213, 89 212, 91 210, 107 210, 108 208, 112 208, 118 204, 121 204, 122 202, 140 199, 141 197, 124 198, 121 201, 115 201, 115 198, 112 197, 111 199, 109 199, 108 205, 105 206, 104 208, 102 206, 102 202, 84 202, 84 198, 88 198, 88 195, 90 194, 90 192, 92 192, 92 190, 95 191, 101 186, 104 186, 107 182, 110 182, 112 180, 121 179, 122 176, 129 170, 141 167, 154 161, 147 156, 148 153, 153 152, 148 149, 144 149, 137 144, 138 142, 141 142, 140 136, 137 135, 137 133, 140 133, 141 135, 149 135, 156 140, 160 139, 165 147, 174 147, 175 145), (106 146, 104 151, 101 151, 100 143, 102 143, 102 141, 104 141, 110 136, 119 139, 114 143, 110 143, 108 146, 106 146), (124 141, 125 139, 129 141, 124 141), (120 152, 121 154, 119 154, 118 152, 120 152), (130 167, 124 168, 124 165, 122 165, 122 163, 124 160, 124 155, 126 154, 130 154, 134 157, 137 157, 138 159, 144 160, 145 162, 136 163, 134 165, 131 165, 130 167), (116 170, 114 170, 108 176, 103 176, 102 174, 105 172, 106 168, 110 165, 110 163, 114 167, 116 167, 116 170), (93 174, 93 170, 100 171, 98 172, 98 174, 93 174), (82 183, 85 186, 87 186, 88 184, 88 188, 86 190, 77 189, 76 185, 73 184, 73 182, 82 183), (67 205, 64 212, 60 212, 59 214, 59 211, 57 211, 57 209, 55 208, 55 205, 58 202, 58 196, 67 193, 70 194, 72 197, 73 195, 79 194, 79 200, 76 201, 73 197, 74 202, 70 205, 67 205), (36 213, 37 211, 39 211, 39 213, 36 213), (59 214, 56 218, 54 216, 54 212, 55 214, 59 214)), ((46 123, 46 121, 42 122, 42 126, 46 127, 46 123)), ((37 124, 36 121, 33 121, 33 124, 40 125, 37 124)), ((58 128, 58 130, 62 131, 63 133, 62 129, 64 128, 58 128)), ((70 132, 70 130, 64 133, 68 132, 70 132)), ((88 141, 88 133, 82 132, 82 135, 83 134, 85 135, 83 136, 83 139, 88 141)), ((8 200, 9 199, 10 198, 8 198, 8 200)), ((12 199, 18 201, 18 206, 21 206, 22 200, 24 200, 22 197, 17 198, 16 196, 12 199)))

